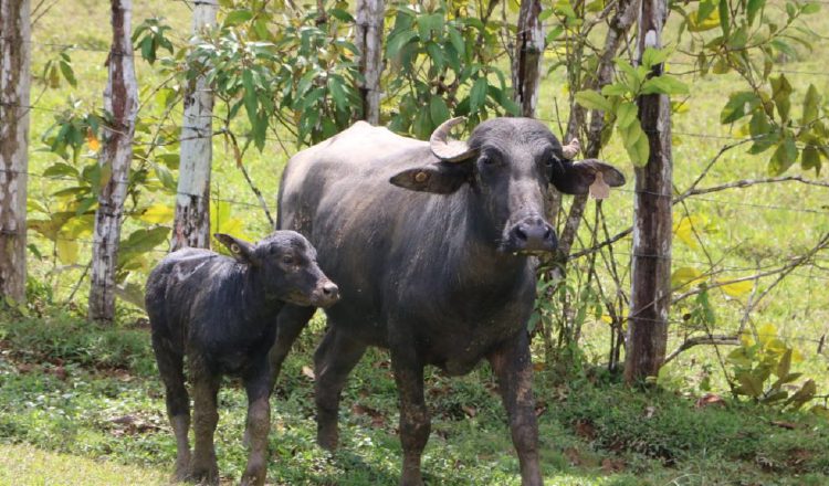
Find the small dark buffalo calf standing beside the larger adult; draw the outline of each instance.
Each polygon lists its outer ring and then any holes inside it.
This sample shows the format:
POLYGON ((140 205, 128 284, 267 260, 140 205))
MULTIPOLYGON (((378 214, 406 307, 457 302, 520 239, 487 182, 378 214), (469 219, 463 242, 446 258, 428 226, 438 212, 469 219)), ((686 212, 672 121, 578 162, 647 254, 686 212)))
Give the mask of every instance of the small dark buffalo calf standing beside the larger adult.
POLYGON ((277 231, 256 244, 227 234, 216 237, 233 258, 208 250, 179 250, 147 279, 153 349, 178 448, 175 479, 219 483, 216 397, 222 374, 229 373, 241 376, 248 392, 245 436, 251 452, 242 484, 262 485, 274 379, 267 352, 276 336, 276 315, 286 302, 330 305, 338 289, 317 266, 314 247, 298 233, 277 231), (192 459, 185 357, 195 395, 192 459))

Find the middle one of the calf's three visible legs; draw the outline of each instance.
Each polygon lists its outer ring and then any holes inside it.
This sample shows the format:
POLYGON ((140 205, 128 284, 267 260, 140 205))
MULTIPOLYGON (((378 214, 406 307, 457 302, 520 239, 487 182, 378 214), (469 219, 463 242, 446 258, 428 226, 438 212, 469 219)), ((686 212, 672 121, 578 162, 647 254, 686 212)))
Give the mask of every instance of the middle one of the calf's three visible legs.
POLYGON ((196 446, 193 450, 190 477, 202 484, 219 484, 219 466, 216 463, 213 433, 219 422, 217 410, 217 394, 221 376, 210 373, 191 361, 193 371, 193 432, 196 446))

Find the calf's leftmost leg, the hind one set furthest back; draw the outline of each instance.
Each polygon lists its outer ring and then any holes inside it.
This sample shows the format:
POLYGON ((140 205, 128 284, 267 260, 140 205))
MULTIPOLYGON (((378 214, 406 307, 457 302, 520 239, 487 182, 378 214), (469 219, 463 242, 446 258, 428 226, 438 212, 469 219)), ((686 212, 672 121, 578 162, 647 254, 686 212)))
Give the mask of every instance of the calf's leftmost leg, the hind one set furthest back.
POLYGON ((190 398, 185 387, 183 356, 164 346, 155 336, 153 349, 164 381, 167 418, 176 434, 176 473, 172 480, 180 482, 185 480, 190 467, 190 443, 187 440, 190 430, 190 398))

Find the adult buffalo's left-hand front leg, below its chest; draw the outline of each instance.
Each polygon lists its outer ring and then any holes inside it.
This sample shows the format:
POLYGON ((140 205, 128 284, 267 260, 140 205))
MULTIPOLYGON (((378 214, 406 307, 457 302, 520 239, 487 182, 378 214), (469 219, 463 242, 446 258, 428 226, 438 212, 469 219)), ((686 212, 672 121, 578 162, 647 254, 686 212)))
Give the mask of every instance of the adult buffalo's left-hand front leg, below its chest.
POLYGON ((410 350, 411 344, 402 347, 403 352, 391 348, 391 367, 395 371, 398 394, 400 395, 400 442, 403 447, 401 486, 421 486, 420 457, 429 440, 431 419, 423 400, 423 364, 410 350))

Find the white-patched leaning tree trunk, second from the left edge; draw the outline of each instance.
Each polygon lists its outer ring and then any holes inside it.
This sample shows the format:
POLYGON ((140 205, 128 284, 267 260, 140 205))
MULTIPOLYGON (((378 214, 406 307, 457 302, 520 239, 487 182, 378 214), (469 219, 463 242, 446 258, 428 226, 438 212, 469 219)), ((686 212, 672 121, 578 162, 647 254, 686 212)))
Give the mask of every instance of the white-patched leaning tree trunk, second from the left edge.
POLYGON ((112 119, 104 126, 98 166, 103 175, 92 246, 92 285, 88 317, 112 321, 115 317, 115 270, 127 192, 133 134, 138 109, 138 84, 133 62, 132 0, 112 0, 113 44, 109 78, 104 91, 104 110, 112 119))

